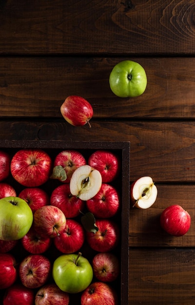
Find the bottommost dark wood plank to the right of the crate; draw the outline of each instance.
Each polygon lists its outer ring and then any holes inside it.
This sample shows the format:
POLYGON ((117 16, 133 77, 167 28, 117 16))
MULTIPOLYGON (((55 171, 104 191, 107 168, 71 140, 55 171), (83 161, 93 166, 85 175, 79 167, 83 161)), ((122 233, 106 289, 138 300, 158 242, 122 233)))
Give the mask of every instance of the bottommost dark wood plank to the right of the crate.
POLYGON ((129 305, 194 304, 195 249, 130 249, 129 305))

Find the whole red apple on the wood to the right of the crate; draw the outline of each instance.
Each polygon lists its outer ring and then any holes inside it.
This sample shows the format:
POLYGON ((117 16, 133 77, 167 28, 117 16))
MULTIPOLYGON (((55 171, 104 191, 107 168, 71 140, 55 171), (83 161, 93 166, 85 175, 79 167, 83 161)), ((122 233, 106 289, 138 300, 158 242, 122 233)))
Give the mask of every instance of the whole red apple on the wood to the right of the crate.
POLYGON ((179 205, 167 207, 160 215, 160 225, 173 236, 182 236, 188 232, 191 216, 179 205))

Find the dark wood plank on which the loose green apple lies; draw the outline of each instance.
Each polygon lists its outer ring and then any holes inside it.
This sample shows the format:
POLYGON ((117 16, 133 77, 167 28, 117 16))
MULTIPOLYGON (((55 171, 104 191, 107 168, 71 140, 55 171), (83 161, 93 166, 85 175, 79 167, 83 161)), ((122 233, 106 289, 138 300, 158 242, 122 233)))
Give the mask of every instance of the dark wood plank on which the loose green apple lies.
POLYGON ((194 118, 195 58, 129 58, 146 70, 137 98, 111 92, 109 75, 128 57, 0 57, 0 115, 60 117, 68 95, 85 97, 96 118, 194 118))

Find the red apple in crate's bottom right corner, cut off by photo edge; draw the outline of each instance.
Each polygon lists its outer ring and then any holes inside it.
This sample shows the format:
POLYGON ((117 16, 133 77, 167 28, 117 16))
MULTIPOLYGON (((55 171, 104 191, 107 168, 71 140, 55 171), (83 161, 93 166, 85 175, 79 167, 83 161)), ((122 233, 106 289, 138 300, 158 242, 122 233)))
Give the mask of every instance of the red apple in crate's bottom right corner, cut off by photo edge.
POLYGON ((81 295, 81 305, 117 305, 117 293, 106 283, 90 284, 81 295))

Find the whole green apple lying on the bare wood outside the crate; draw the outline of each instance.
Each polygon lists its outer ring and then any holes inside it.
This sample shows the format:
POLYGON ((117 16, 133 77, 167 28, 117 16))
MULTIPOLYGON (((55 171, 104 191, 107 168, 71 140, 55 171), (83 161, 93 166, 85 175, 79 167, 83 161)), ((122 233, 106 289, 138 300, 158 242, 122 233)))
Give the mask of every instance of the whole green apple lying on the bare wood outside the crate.
POLYGON ((119 97, 142 95, 147 86, 147 76, 143 67, 132 60, 116 64, 109 77, 112 92, 119 97))

